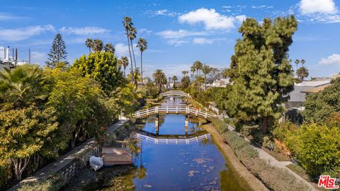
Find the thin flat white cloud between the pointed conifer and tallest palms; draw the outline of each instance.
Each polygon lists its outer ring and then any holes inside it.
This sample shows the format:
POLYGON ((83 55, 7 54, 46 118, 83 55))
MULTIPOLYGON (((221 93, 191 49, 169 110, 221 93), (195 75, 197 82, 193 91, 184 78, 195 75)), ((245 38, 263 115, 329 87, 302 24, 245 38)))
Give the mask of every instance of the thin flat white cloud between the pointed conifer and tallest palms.
POLYGON ((73 35, 101 35, 110 32, 110 30, 96 26, 86 26, 83 28, 62 27, 60 28, 60 32, 73 35))

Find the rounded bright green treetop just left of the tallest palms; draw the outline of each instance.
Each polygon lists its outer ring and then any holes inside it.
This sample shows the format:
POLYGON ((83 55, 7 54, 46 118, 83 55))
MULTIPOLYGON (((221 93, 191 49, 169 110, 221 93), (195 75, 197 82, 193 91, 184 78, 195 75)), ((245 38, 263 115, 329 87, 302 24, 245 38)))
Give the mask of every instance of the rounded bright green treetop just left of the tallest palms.
POLYGON ((84 55, 76 59, 72 67, 79 69, 82 76, 98 81, 106 93, 124 83, 121 67, 111 52, 95 52, 87 57, 84 55))

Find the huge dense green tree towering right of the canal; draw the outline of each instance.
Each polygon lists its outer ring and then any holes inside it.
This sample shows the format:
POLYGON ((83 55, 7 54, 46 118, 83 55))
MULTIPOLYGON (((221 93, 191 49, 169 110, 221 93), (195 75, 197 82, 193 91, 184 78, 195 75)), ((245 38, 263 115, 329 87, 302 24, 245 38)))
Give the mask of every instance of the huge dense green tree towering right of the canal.
POLYGON ((294 16, 265 18, 260 25, 247 18, 239 28, 228 75, 232 91, 227 104, 229 114, 240 122, 261 122, 263 134, 284 110, 282 103, 293 91, 293 70, 288 47, 297 30, 294 16))

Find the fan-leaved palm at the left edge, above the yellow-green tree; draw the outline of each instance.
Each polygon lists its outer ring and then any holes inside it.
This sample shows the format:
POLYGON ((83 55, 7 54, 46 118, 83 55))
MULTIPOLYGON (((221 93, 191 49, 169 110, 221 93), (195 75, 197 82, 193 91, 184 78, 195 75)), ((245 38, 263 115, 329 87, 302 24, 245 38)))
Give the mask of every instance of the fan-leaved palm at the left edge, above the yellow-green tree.
POLYGON ((4 67, 0 71, 0 108, 20 108, 47 97, 42 91, 44 79, 39 66, 23 65, 11 71, 4 67))

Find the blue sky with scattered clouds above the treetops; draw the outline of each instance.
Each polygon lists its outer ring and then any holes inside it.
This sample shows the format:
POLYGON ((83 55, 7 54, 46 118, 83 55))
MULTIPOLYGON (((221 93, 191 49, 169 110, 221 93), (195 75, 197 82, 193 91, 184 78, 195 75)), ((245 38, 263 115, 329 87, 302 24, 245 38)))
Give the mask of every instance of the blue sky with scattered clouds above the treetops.
MULTIPOLYGON (((200 60, 225 68, 246 17, 275 18, 295 14, 298 30, 290 59, 305 59, 310 76, 340 71, 340 1, 3 1, 0 10, 0 47, 17 47, 21 59, 44 65, 52 39, 61 33, 69 62, 87 54, 86 38, 115 45, 118 57, 128 55, 122 26, 132 17, 137 37, 145 37, 145 74, 163 69, 181 76, 200 60)), ((135 50, 139 64, 140 53, 135 50)), ((0 57, 3 57, 3 53, 0 57)), ((295 66, 295 64, 293 64, 295 66)))

